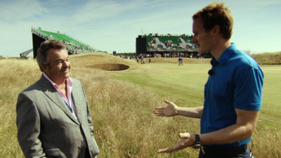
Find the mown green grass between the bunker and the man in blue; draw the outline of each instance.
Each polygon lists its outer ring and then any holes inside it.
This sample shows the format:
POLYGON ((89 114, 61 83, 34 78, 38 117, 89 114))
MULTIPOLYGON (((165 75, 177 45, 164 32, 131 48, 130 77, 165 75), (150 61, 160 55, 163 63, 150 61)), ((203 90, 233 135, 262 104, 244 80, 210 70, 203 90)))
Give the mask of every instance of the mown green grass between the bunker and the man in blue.
POLYGON ((143 72, 112 72, 116 79, 129 81, 159 96, 174 98, 181 106, 200 106, 203 104, 204 84, 207 81, 207 64, 151 63, 142 65, 143 72))

